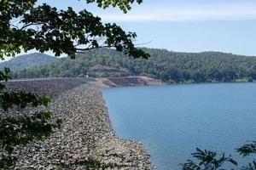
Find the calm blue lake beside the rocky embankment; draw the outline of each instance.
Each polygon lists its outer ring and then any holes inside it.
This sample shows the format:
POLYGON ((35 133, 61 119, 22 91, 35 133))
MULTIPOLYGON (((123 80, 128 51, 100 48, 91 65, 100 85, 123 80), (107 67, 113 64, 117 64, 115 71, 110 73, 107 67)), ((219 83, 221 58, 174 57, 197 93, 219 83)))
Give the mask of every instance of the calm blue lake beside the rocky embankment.
POLYGON ((256 83, 183 84, 103 91, 117 136, 143 142, 154 167, 181 169, 196 147, 235 150, 256 139, 256 83))

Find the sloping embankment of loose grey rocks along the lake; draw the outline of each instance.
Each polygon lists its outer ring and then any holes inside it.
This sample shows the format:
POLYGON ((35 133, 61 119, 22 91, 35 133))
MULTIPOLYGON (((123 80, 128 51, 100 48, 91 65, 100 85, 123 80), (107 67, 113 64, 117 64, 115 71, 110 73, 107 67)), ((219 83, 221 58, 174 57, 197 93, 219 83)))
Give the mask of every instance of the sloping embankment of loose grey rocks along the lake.
POLYGON ((61 129, 48 138, 17 147, 18 161, 14 169, 85 169, 86 160, 115 165, 107 169, 151 169, 143 144, 114 135, 102 88, 96 84, 83 78, 7 84, 9 88, 31 89, 52 96, 48 107, 35 110, 54 111, 53 119, 64 120, 61 129))

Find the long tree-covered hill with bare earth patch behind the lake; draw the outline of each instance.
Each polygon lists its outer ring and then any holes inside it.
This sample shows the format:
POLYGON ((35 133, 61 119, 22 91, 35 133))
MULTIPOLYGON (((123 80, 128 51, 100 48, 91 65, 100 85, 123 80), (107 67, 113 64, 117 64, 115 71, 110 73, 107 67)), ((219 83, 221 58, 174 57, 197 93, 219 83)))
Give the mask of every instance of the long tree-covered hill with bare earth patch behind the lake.
POLYGON ((14 78, 148 76, 164 82, 235 82, 256 80, 256 57, 218 52, 176 53, 143 48, 150 59, 131 59, 102 48, 59 59, 54 64, 15 71, 14 78))

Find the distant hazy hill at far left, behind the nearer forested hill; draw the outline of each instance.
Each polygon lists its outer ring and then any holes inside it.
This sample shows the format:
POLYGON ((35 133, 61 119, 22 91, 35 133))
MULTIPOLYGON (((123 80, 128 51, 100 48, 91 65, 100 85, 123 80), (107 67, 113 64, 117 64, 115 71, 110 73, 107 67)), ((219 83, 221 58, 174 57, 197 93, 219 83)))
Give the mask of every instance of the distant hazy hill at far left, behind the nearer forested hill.
POLYGON ((4 67, 10 68, 12 71, 24 70, 27 68, 38 67, 40 65, 52 64, 56 60, 57 58, 47 54, 25 54, 0 63, 0 70, 3 70, 4 67))

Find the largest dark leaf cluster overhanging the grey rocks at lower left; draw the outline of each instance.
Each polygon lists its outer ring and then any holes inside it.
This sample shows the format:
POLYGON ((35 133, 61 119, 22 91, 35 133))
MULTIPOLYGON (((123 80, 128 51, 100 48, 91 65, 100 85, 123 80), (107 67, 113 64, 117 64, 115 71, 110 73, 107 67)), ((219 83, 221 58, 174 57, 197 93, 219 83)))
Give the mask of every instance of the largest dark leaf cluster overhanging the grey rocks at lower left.
POLYGON ((16 145, 49 136, 56 127, 61 125, 61 120, 58 120, 56 124, 49 123, 52 115, 53 113, 49 111, 42 111, 33 116, 0 118, 1 149, 11 154, 16 145))

